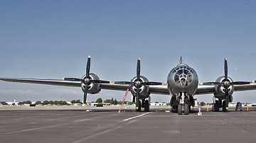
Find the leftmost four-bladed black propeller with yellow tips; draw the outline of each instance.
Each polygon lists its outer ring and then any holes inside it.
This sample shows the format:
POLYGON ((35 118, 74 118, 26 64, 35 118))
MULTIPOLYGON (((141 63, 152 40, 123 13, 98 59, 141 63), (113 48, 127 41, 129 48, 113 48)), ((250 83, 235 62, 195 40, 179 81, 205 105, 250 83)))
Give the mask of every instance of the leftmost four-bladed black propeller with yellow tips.
POLYGON ((80 81, 81 84, 85 84, 85 86, 83 86, 84 90, 84 96, 83 96, 83 103, 84 105, 86 104, 86 100, 87 100, 87 92, 89 89, 89 85, 90 83, 96 83, 96 84, 111 84, 111 81, 103 81, 103 80, 92 80, 90 79, 90 59, 91 57, 88 56, 87 58, 87 65, 86 65, 86 70, 85 70, 85 78, 84 79, 78 79, 78 78, 63 78, 63 80, 65 81, 80 81))

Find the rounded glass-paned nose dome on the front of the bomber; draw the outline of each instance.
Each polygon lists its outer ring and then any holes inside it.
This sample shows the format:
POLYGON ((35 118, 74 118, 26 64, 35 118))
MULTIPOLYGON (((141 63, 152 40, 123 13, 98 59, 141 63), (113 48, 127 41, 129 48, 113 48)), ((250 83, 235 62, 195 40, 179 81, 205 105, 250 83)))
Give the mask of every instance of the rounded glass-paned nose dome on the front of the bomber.
POLYGON ((192 81, 191 69, 188 67, 178 67, 176 68, 176 73, 174 74, 174 81, 178 86, 188 86, 192 81))

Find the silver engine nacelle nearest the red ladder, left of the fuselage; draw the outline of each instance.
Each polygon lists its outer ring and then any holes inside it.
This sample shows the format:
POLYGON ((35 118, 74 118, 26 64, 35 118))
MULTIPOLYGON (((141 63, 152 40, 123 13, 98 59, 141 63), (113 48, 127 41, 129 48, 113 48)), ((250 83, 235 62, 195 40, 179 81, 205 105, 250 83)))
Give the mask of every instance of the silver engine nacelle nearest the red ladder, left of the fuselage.
MULTIPOLYGON (((132 82, 134 82, 134 81, 137 81, 137 77, 136 76, 132 79, 132 82)), ((145 76, 140 76, 139 81, 141 81, 141 82, 148 82, 149 80, 146 79, 145 76)), ((132 86, 131 92, 132 92, 132 96, 136 96, 137 88, 135 86, 132 86)), ((141 85, 141 86, 139 86, 139 98, 140 99, 148 98, 149 94, 150 93, 149 93, 149 86, 148 85, 141 85)))

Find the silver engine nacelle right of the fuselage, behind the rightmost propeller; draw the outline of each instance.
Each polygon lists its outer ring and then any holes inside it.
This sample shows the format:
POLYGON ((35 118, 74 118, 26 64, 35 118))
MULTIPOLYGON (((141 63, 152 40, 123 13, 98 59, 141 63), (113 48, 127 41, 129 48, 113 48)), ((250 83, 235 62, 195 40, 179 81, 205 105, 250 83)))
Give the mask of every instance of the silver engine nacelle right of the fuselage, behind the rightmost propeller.
MULTIPOLYGON (((216 82, 223 82, 225 80, 225 76, 220 76, 216 82)), ((228 76, 228 81, 229 82, 233 82, 233 79, 231 79, 229 76, 228 76)), ((233 85, 230 85, 228 87, 228 96, 230 97, 230 102, 233 101, 233 98, 232 98, 232 94, 234 92, 234 86, 233 85)), ((225 99, 225 88, 221 85, 216 85, 215 86, 215 93, 214 93, 214 96, 215 98, 220 98, 220 99, 225 99)))

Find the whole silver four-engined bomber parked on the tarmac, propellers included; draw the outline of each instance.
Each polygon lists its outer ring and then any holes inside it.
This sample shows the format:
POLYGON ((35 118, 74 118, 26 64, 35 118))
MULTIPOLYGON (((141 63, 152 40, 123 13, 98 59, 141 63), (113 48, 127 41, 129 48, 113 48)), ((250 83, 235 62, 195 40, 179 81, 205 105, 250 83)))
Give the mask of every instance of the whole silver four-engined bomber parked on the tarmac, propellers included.
POLYGON ((224 112, 228 111, 228 103, 233 101, 234 91, 255 90, 255 81, 233 81, 228 76, 228 62, 225 58, 224 76, 218 77, 215 82, 205 82, 198 84, 198 75, 196 71, 183 64, 182 57, 180 64, 171 69, 167 76, 167 83, 149 81, 140 74, 140 58, 137 59, 137 76, 131 81, 105 81, 101 80, 96 74, 90 73, 90 59, 87 58, 87 67, 85 75, 81 79, 63 78, 60 79, 24 79, 24 78, 0 78, 2 81, 30 83, 30 84, 48 84, 54 86, 75 86, 82 88, 84 93, 83 103, 86 104, 87 93, 99 93, 101 89, 129 91, 132 93, 132 102, 136 103, 136 111, 144 108, 149 112, 150 94, 166 94, 171 96, 171 111, 178 115, 188 115, 191 106, 195 105, 193 96, 198 94, 213 93, 213 109, 224 112))

